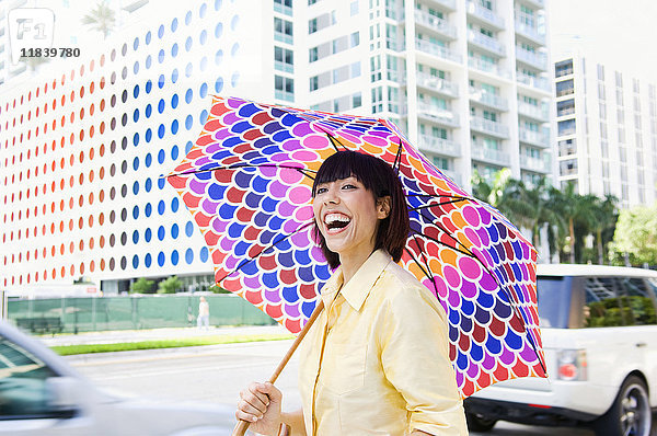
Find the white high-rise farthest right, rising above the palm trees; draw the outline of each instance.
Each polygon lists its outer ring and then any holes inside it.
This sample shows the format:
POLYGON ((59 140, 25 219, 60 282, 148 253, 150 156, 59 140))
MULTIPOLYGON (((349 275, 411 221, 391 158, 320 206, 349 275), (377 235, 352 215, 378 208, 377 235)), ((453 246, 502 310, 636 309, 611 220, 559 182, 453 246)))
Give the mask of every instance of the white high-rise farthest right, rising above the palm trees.
POLYGON ((657 199, 655 84, 575 55, 555 64, 558 180, 622 207, 657 199))

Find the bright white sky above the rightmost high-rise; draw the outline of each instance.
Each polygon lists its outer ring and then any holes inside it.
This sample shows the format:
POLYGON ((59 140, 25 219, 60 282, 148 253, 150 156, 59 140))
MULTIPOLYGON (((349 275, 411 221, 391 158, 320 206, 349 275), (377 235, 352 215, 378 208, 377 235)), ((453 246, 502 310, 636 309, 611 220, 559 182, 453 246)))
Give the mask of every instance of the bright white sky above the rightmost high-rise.
POLYGON ((546 0, 552 60, 585 57, 657 83, 657 1, 546 0))

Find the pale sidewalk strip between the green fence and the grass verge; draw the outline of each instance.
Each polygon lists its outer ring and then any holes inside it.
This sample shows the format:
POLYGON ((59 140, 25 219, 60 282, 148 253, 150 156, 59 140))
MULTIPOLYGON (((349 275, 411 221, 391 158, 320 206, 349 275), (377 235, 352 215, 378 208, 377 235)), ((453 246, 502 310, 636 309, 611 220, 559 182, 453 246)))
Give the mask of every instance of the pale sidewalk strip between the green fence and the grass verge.
POLYGON ((102 332, 84 332, 79 334, 59 334, 36 336, 47 346, 80 344, 116 344, 125 342, 175 340, 185 337, 204 337, 217 335, 247 334, 290 334, 281 325, 243 325, 219 326, 201 330, 198 328, 150 329, 150 330, 115 330, 102 332))

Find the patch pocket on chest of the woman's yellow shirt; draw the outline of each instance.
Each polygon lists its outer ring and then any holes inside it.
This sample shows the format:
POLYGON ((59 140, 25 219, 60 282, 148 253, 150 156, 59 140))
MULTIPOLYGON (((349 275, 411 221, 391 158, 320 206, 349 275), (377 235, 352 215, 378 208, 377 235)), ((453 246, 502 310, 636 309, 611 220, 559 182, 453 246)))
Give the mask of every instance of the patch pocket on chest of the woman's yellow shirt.
POLYGON ((322 365, 323 387, 336 395, 362 388, 367 344, 326 344, 322 365))

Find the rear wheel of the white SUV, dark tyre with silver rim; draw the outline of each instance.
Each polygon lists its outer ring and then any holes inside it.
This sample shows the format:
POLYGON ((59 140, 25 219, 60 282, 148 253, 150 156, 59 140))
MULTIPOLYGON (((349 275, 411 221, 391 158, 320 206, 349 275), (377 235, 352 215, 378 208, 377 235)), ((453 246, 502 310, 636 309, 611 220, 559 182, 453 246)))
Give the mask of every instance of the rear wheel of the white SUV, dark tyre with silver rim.
POLYGON ((621 386, 611 409, 596 422, 596 435, 649 436, 652 422, 646 383, 630 376, 621 386))

